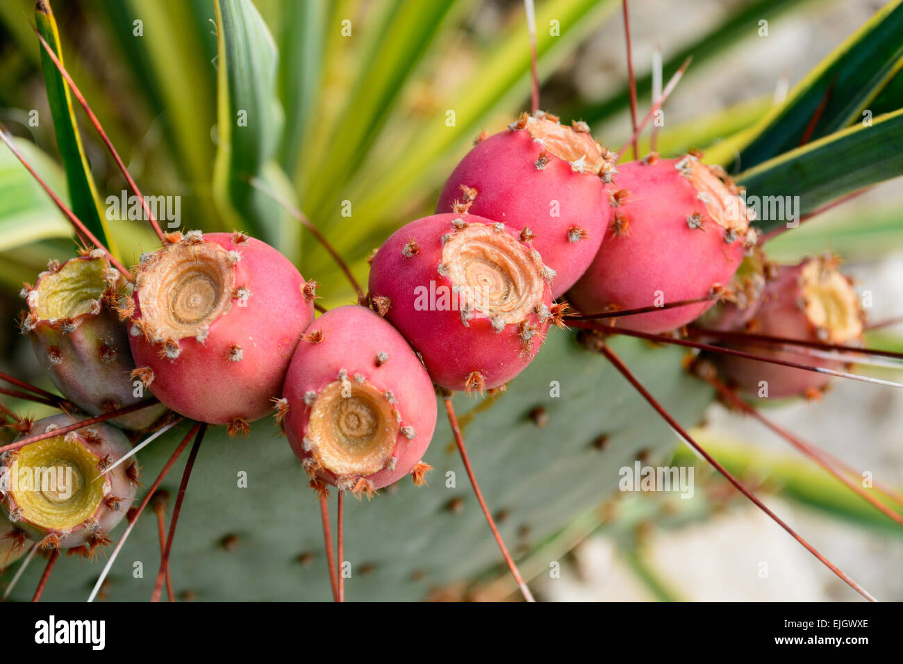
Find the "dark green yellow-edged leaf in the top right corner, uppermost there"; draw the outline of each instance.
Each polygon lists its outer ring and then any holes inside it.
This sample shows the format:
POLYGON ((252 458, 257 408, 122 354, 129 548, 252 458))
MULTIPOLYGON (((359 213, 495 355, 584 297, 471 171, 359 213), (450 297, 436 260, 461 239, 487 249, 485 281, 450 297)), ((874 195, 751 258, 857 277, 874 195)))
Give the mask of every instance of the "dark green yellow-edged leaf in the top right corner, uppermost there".
MULTIPOLYGON (((740 151, 748 169, 797 145, 862 119, 903 66, 903 0, 893 0, 803 79, 780 107, 763 118, 740 151)), ((903 97, 896 105, 903 106, 903 97)), ((889 105, 885 98, 884 106, 889 105)), ((873 114, 874 115, 874 114, 873 114)))

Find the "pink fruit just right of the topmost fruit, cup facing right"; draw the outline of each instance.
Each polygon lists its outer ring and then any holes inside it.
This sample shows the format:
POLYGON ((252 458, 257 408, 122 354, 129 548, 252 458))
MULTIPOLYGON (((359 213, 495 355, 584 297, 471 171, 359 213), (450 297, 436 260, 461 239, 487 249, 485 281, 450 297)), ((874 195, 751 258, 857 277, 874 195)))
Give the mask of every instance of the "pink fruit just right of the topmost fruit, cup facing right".
MULTIPOLYGON (((619 166, 614 220, 568 299, 583 313, 692 300, 727 286, 755 244, 736 187, 694 155, 619 166)), ((674 330, 712 302, 619 319, 640 332, 674 330)))

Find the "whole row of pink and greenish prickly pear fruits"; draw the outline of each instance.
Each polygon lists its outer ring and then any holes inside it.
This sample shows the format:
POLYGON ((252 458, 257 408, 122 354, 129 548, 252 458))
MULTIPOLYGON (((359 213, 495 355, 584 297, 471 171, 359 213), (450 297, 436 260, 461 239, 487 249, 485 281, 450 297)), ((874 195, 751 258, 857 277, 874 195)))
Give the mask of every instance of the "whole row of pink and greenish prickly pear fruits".
MULTIPOLYGON (((698 301, 618 322, 639 332, 676 330, 720 300, 706 314, 712 330, 858 340, 861 309, 836 262, 768 265, 736 186, 699 156, 616 166, 583 123, 524 114, 480 136, 436 214, 376 251, 360 304, 316 319, 316 283, 238 231, 166 234, 134 282, 98 248, 51 263, 23 287, 21 328, 61 394, 95 416, 159 403, 5 453, 13 474, 60 462, 75 472, 65 498, 59 487, 5 486, 3 562, 27 538, 88 556, 109 541, 137 482, 134 461, 115 465, 128 442, 113 425, 143 432, 184 416, 247 435, 275 411, 321 495, 333 485, 370 497, 408 475, 423 483, 434 389, 504 389, 549 325, 566 323, 563 295, 584 314, 647 307, 662 292, 698 301)), ((714 360, 753 393, 767 379, 774 396, 811 397, 828 378, 714 360)), ((20 439, 78 419, 26 423, 20 439)))

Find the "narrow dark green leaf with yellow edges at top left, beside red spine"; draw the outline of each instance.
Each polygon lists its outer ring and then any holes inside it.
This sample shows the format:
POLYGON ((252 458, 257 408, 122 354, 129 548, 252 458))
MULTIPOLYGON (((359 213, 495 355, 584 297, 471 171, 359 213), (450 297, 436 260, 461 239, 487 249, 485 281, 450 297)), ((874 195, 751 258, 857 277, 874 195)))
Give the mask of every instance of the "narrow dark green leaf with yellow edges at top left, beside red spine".
MULTIPOLYGON (((53 18, 50 3, 39 0, 34 8, 35 24, 56 57, 62 60, 60 49, 60 33, 53 18)), ((116 254, 116 245, 109 237, 107 219, 100 202, 94 178, 91 176, 91 164, 81 143, 79 125, 72 108, 69 86, 50 56, 41 50, 41 64, 44 82, 47 87, 47 100, 53 117, 53 131, 56 134, 57 147, 60 149, 66 181, 69 183, 71 209, 107 248, 116 254)), ((65 64, 63 62, 63 64, 65 64)))

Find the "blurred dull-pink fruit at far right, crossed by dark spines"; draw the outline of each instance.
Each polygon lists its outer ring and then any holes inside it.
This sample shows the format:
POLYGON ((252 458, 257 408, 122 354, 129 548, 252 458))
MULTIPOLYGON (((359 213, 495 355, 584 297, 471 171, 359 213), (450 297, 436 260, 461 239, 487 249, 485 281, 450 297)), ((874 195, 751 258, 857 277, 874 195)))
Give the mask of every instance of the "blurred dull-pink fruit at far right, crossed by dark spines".
MULTIPOLYGON (((768 281, 762 304, 749 322, 749 330, 768 336, 845 345, 861 342, 863 313, 848 277, 831 256, 807 258, 796 266, 777 267, 768 281)), ((825 369, 843 369, 843 362, 793 351, 778 351, 731 342, 731 348, 764 357, 788 360, 825 369)), ((817 397, 830 376, 756 360, 717 354, 712 357, 721 376, 751 396, 817 397), (766 381, 762 383, 761 381, 766 381)))

